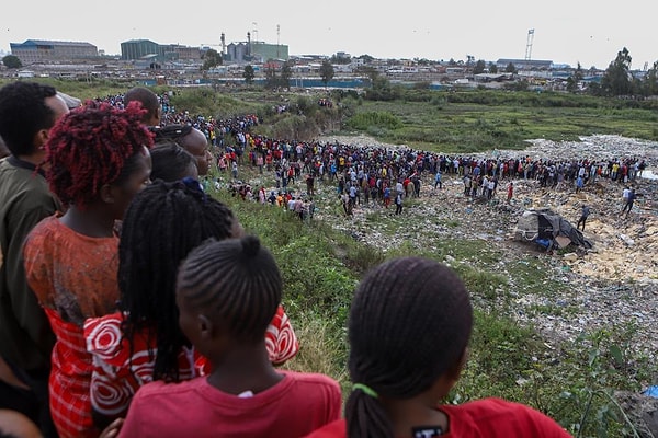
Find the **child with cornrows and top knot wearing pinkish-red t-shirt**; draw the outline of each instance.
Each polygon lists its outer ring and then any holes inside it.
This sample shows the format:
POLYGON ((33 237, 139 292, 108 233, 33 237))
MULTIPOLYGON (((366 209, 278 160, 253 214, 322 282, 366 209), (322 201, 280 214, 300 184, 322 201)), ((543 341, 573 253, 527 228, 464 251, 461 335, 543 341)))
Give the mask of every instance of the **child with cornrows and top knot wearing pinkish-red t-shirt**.
POLYGON ((252 235, 209 241, 181 264, 179 324, 213 365, 207 378, 148 383, 137 391, 120 437, 286 437, 340 416, 338 383, 277 371, 264 334, 281 302, 282 279, 252 235), (181 406, 194 406, 180 415, 181 406))

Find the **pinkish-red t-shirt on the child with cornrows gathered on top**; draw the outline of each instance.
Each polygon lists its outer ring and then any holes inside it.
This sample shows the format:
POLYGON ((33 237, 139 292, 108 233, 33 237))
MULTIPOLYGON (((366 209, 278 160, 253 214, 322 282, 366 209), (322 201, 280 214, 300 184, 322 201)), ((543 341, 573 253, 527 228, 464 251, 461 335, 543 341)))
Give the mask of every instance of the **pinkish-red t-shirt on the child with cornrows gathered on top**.
POLYGON ((274 387, 249 397, 224 393, 206 378, 148 383, 135 394, 120 437, 298 438, 340 417, 334 380, 282 373, 274 387))

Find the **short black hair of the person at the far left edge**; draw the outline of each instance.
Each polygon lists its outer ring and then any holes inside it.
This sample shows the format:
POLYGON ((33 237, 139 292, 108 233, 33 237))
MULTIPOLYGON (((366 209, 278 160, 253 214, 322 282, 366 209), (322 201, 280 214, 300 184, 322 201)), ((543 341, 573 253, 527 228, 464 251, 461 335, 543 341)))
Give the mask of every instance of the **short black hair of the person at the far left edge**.
POLYGON ((13 155, 34 152, 34 136, 55 124, 55 112, 46 104, 57 90, 36 82, 12 82, 0 89, 0 137, 13 155))

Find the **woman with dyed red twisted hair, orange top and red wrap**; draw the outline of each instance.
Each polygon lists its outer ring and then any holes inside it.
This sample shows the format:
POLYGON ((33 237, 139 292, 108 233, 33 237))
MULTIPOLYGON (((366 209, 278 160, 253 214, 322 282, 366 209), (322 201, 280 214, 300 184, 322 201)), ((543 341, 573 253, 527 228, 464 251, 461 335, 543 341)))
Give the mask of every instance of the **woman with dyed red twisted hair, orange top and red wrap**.
POLYGON ((116 309, 115 222, 149 182, 152 135, 137 104, 89 103, 65 116, 46 143, 46 178, 66 212, 41 221, 25 241, 27 283, 57 337, 49 400, 61 438, 93 437, 92 360, 82 324, 116 309))

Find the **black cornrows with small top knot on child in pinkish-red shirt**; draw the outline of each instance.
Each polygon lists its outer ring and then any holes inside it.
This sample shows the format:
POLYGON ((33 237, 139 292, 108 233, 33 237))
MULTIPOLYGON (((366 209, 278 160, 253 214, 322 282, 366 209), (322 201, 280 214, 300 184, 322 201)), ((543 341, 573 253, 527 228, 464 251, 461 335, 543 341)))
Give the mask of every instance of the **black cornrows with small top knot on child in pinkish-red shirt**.
POLYGON ((274 257, 253 235, 194 249, 181 264, 177 284, 186 303, 248 344, 264 339, 282 289, 274 257))

